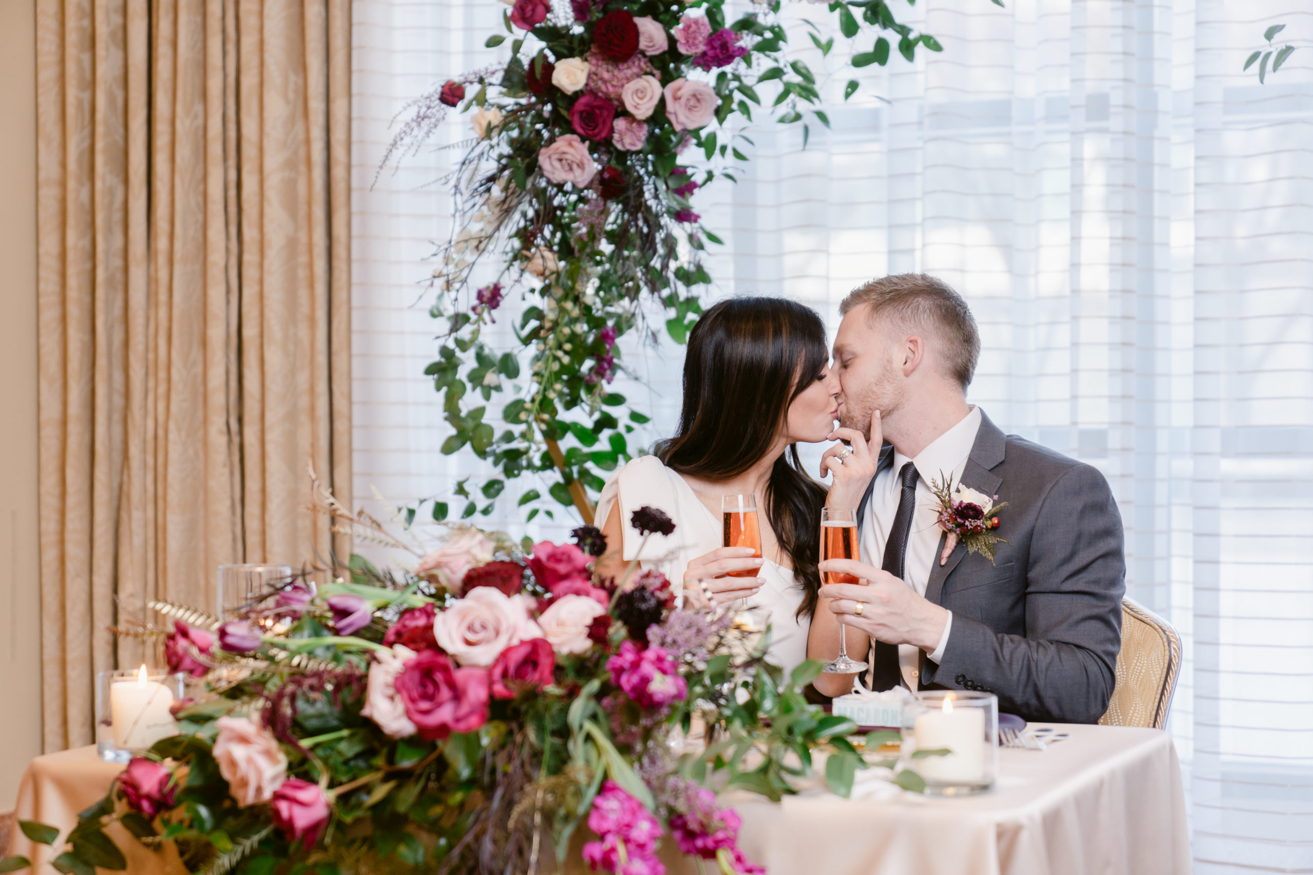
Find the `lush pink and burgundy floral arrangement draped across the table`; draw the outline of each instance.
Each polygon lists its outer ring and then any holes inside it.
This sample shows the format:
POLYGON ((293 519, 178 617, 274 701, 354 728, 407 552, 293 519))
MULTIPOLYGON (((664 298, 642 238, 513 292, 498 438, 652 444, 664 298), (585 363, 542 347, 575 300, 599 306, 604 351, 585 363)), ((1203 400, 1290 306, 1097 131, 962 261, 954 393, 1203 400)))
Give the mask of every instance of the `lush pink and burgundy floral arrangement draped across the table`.
MULTIPOLYGON (((651 508, 633 517, 645 538, 674 530, 651 508)), ((104 832, 118 821, 206 875, 533 872, 586 823, 576 853, 597 871, 662 875, 668 833, 723 875, 763 872, 713 790, 779 799, 825 744, 847 795, 867 767, 844 739, 856 727, 804 699, 818 662, 781 677, 768 631, 675 610, 656 572, 601 579, 605 538, 574 534, 521 552, 457 529, 412 573, 353 556, 349 580, 288 582, 222 623, 154 602, 194 698, 175 703, 180 733, 80 815, 55 867, 123 868, 104 832), (684 740, 695 719, 718 740, 684 740)))

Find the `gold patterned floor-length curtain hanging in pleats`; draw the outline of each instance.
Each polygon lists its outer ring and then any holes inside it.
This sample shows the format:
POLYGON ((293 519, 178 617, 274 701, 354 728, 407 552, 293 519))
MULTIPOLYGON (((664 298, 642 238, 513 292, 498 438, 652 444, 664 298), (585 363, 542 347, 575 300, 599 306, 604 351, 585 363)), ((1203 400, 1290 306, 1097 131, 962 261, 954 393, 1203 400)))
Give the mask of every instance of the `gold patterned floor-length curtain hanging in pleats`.
POLYGON ((37 0, 45 745, 108 631, 349 502, 349 0, 37 0))

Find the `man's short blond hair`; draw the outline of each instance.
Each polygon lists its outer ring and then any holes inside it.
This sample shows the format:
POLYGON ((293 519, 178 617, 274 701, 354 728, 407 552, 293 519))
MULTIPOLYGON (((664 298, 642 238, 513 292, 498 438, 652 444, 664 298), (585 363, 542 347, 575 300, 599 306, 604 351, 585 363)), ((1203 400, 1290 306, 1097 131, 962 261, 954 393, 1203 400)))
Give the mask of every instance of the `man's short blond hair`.
POLYGON ((981 357, 981 333, 970 307, 952 286, 924 273, 872 279, 848 293, 839 304, 839 315, 863 304, 871 304, 867 316, 872 323, 878 316, 892 316, 907 328, 931 333, 939 341, 947 376, 964 390, 970 386, 981 357))

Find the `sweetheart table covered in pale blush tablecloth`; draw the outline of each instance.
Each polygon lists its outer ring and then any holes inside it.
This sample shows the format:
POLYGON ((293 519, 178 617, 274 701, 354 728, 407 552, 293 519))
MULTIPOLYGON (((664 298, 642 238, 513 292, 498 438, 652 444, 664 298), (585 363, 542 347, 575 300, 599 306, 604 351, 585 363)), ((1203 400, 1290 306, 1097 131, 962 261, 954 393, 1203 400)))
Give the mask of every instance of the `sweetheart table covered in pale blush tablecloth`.
MULTIPOLYGON (((859 773, 851 799, 817 781, 780 803, 744 792, 725 794, 722 802, 743 817, 741 845, 769 875, 1190 872, 1180 767, 1166 732, 1035 725, 1071 737, 1044 752, 999 750, 998 783, 978 796, 920 796, 859 773)), ((821 760, 818 774, 825 771, 821 760)), ((38 757, 22 779, 18 817, 68 829, 119 769, 101 762, 95 748, 38 757)), ((176 857, 146 850, 126 833, 113 837, 131 875, 184 871, 176 857)), ((697 867, 674 853, 674 842, 663 845, 670 875, 696 875, 697 867)), ((32 844, 18 833, 11 853, 32 857, 32 844)), ((587 871, 572 863, 569 872, 587 871)))

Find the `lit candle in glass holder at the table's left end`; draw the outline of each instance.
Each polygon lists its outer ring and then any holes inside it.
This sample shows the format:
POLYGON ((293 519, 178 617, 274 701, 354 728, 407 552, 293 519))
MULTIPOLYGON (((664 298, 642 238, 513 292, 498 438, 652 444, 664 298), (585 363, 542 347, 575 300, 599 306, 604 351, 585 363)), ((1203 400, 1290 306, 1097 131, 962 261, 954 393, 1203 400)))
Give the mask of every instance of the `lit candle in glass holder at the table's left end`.
POLYGON ((106 762, 127 762, 160 739, 177 735, 169 706, 183 698, 185 674, 159 669, 96 673, 96 750, 106 762))

